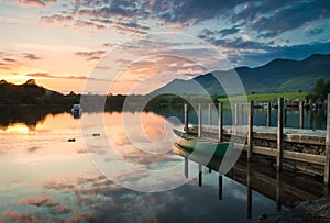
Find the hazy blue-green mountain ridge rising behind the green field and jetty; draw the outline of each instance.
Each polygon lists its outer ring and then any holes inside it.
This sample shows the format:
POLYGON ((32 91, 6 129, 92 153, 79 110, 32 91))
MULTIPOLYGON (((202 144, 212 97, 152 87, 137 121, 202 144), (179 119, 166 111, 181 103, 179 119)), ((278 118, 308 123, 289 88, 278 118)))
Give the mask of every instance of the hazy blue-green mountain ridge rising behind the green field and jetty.
POLYGON ((221 85, 226 83, 221 81, 220 85, 217 79, 231 80, 234 71, 241 79, 246 93, 299 90, 310 92, 317 79, 330 79, 330 54, 315 54, 304 60, 275 59, 256 68, 238 67, 234 70, 216 70, 190 80, 175 79, 151 94, 202 93, 206 91, 209 94, 224 94, 221 85))

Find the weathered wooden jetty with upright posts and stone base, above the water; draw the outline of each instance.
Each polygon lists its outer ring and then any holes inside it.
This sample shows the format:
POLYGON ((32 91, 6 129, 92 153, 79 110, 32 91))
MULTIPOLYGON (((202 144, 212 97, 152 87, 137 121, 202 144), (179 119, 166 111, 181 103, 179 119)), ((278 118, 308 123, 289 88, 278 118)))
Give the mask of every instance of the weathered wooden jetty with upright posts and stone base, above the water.
POLYGON ((231 141, 243 146, 248 160, 252 158, 283 169, 322 176, 324 185, 330 185, 330 93, 327 101, 327 131, 304 130, 304 102, 299 103, 300 129, 287 129, 284 99, 278 99, 277 126, 271 126, 271 103, 267 103, 267 126, 253 125, 254 102, 235 103, 234 125, 223 125, 223 103, 219 103, 218 125, 202 125, 201 108, 198 105, 198 125, 188 129, 188 108, 185 104, 185 132, 198 137, 218 142, 231 141), (243 107, 248 107, 248 125, 242 125, 243 107))

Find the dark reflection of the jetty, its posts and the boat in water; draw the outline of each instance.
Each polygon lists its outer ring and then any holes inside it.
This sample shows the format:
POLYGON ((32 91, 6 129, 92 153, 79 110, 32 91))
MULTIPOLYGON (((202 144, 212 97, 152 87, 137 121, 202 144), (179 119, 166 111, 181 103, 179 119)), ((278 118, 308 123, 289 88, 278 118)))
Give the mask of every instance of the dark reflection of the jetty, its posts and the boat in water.
MULTIPOLYGON (((174 146, 173 152, 185 158, 185 176, 189 176, 189 163, 199 164, 198 186, 202 187, 202 177, 209 172, 218 171, 221 159, 212 157, 206 167, 202 167, 198 156, 191 155, 178 145, 174 146), (202 171, 202 168, 209 168, 209 171, 202 171)), ((252 218, 253 191, 276 202, 275 211, 282 211, 282 207, 294 208, 302 201, 316 200, 329 194, 330 188, 321 182, 315 181, 311 177, 301 175, 279 174, 272 171, 273 168, 261 166, 257 163, 248 161, 245 156, 240 157, 233 168, 226 174, 228 177, 241 185, 246 186, 246 216, 252 218)), ((218 198, 222 200, 226 197, 223 191, 223 176, 218 175, 218 198)))

